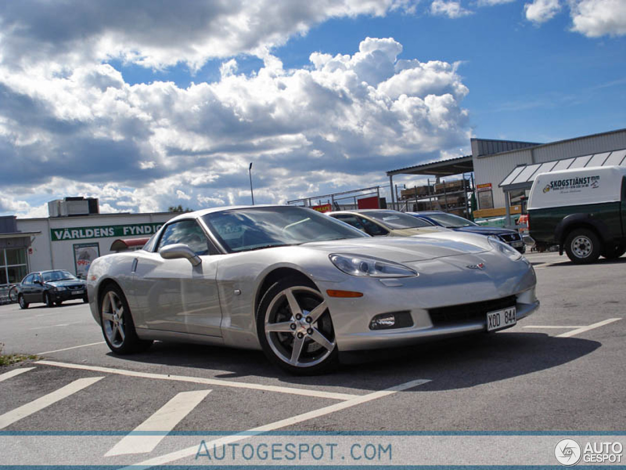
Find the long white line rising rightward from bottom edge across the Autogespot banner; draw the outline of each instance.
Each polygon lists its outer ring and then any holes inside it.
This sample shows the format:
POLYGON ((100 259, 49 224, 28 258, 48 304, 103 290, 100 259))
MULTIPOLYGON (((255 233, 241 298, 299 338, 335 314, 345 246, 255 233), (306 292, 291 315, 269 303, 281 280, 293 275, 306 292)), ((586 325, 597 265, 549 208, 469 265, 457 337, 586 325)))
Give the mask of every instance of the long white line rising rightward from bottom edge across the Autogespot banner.
MULTIPOLYGON (((226 444, 230 444, 231 442, 243 441, 250 437, 250 435, 254 434, 263 434, 264 432, 274 431, 275 429, 280 429, 281 427, 293 426, 294 424, 298 424, 300 422, 304 422, 310 419, 314 419, 320 416, 324 416, 327 414, 334 413, 336 411, 345 410, 347 408, 351 408, 356 405, 360 405, 362 403, 370 402, 371 400, 376 400, 382 397, 387 397, 389 395, 393 395, 396 392, 401 392, 402 390, 412 389, 413 387, 418 387, 418 385, 426 384, 430 382, 430 380, 411 380, 411 382, 406 382, 405 384, 396 385, 395 387, 391 387, 385 390, 379 390, 378 392, 372 392, 371 394, 361 395, 360 397, 356 397, 351 400, 347 400, 342 403, 336 403, 334 405, 330 405, 324 408, 320 408, 317 410, 309 411, 307 413, 299 414, 296 416, 292 416, 287 419, 281 419, 279 421, 275 421, 270 424, 265 424, 264 426, 254 427, 249 429, 248 431, 240 432, 239 434, 233 434, 232 436, 220 437, 219 439, 215 439, 214 441, 205 442, 207 448, 215 446, 222 446, 226 444)), ((187 449, 182 449, 176 452, 170 452, 169 454, 165 454, 159 457, 154 457, 152 459, 140 462, 138 464, 133 464, 132 466, 125 467, 123 470, 140 470, 147 469, 150 467, 154 467, 157 465, 166 465, 170 462, 177 461, 179 459, 183 459, 185 457, 190 457, 197 454, 199 449, 198 446, 187 447, 187 449)))

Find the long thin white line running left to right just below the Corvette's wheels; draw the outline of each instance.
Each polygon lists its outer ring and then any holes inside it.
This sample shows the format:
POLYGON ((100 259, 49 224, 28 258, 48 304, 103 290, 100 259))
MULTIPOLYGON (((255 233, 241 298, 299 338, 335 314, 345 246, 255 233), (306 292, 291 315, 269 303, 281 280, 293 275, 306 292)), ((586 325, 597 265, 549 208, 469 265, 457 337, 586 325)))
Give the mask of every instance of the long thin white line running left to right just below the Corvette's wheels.
POLYGON ((166 375, 163 373, 135 372, 134 370, 114 369, 110 367, 98 367, 95 365, 72 364, 68 362, 38 361, 36 364, 52 365, 54 367, 66 367, 71 369, 91 370, 93 372, 116 373, 128 377, 142 377, 144 379, 175 380, 177 382, 192 382, 192 384, 218 385, 233 387, 235 389, 265 390, 267 392, 279 392, 282 394, 304 395, 305 397, 330 398, 334 400, 351 400, 361 395, 339 394, 336 392, 323 392, 322 390, 296 389, 295 387, 279 387, 277 385, 249 384, 247 382, 233 382, 232 380, 205 379, 203 377, 187 377, 185 375, 166 375))

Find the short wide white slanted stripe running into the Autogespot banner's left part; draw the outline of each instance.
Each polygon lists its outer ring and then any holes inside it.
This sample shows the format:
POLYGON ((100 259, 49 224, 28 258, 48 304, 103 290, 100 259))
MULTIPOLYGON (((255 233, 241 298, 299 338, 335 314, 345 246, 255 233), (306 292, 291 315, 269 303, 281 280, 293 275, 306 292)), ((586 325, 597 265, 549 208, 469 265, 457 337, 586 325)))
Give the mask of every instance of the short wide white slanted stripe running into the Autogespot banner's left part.
POLYGON ((211 390, 194 390, 180 392, 168 401, 155 414, 135 428, 113 448, 106 452, 105 457, 122 454, 143 454, 152 452, 168 432, 182 421, 192 410, 204 400, 211 390), (159 432, 160 434, 135 434, 142 432, 159 432))

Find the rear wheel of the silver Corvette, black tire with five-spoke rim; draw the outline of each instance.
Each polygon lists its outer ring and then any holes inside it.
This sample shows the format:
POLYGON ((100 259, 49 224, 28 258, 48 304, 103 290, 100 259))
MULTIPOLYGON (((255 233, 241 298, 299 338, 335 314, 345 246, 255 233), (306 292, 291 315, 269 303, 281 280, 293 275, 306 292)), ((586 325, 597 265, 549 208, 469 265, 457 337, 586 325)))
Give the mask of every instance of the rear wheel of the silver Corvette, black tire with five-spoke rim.
POLYGON ((140 340, 133 323, 128 301, 116 284, 106 286, 100 296, 100 326, 106 345, 116 354, 140 352, 152 344, 151 340, 140 340))

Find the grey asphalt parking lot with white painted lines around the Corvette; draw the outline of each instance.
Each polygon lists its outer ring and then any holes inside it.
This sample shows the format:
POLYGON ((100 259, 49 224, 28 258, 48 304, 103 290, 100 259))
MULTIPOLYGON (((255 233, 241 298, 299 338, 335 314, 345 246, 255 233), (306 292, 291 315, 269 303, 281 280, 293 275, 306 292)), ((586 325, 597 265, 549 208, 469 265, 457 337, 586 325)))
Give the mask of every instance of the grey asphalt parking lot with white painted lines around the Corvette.
MULTIPOLYGON (((116 357, 88 305, 0 306, 4 353, 42 358, 0 368, 0 431, 623 431, 626 258, 527 258, 541 308, 515 327, 319 377, 228 348, 155 343, 116 357)), ((102 451, 112 464, 182 455, 148 441, 118 436, 102 451)))

